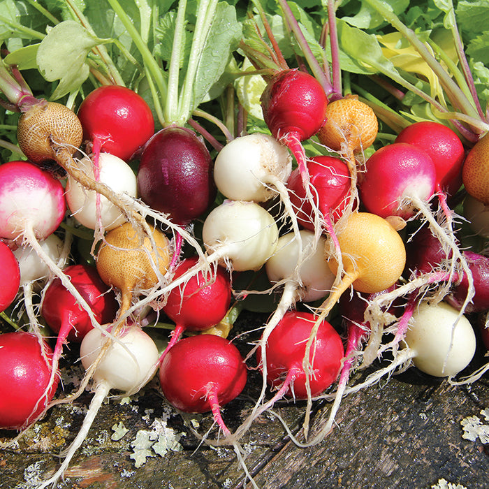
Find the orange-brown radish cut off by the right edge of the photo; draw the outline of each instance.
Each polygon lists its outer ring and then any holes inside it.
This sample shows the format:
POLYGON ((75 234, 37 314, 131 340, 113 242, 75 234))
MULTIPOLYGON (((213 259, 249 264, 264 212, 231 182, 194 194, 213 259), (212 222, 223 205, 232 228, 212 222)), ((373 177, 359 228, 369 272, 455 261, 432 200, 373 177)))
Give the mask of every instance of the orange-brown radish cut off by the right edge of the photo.
POLYGON ((470 149, 462 167, 462 182, 472 197, 489 205, 488 180, 489 133, 470 149))

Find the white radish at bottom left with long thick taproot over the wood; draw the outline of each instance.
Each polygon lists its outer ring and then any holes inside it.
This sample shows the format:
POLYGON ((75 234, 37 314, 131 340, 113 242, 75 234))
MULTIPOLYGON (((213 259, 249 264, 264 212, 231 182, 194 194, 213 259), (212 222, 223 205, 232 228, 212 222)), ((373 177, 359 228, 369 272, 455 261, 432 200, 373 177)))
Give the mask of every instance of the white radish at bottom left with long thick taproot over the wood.
POLYGON ((132 395, 143 388, 156 373, 158 349, 141 328, 122 328, 115 339, 106 337, 106 334, 94 328, 85 335, 80 344, 82 365, 87 371, 87 377, 94 379, 94 397, 80 430, 64 451, 64 460, 59 469, 49 479, 44 480, 38 489, 56 485, 87 437, 94 418, 111 389, 120 391, 122 395, 132 395))

